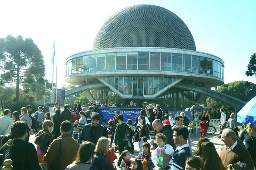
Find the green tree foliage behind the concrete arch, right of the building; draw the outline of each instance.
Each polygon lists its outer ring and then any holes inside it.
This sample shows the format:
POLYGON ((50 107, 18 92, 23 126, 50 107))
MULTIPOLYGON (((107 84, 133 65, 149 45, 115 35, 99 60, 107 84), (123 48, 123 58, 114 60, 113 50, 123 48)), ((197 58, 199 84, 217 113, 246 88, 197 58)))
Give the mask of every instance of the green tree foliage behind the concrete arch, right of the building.
MULTIPOLYGON (((218 92, 233 96, 234 98, 240 99, 244 102, 248 102, 253 97, 256 96, 256 84, 247 82, 247 81, 235 81, 232 83, 227 83, 221 85, 218 89, 218 92)), ((211 108, 225 108, 225 109, 234 109, 227 104, 207 97, 205 103, 207 107, 211 108)))

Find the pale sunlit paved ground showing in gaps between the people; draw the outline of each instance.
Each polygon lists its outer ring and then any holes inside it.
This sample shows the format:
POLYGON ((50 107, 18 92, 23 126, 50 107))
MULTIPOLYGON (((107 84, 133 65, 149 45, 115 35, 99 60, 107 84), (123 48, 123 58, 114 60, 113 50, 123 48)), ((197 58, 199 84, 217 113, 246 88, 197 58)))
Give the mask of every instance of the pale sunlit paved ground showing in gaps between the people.
MULTIPOLYGON (((221 148, 224 145, 224 143, 221 141, 221 139, 218 138, 218 135, 219 135, 219 133, 217 131, 214 135, 208 135, 207 137, 214 144, 214 146, 215 146, 215 148, 217 150, 217 153, 220 155, 221 148)), ((154 134, 153 133, 151 133, 151 137, 152 137, 152 139, 154 139, 154 134)), ((197 134, 193 134, 192 133, 191 134, 192 151, 194 151, 196 149, 197 141, 198 141, 199 138, 200 138, 200 133, 197 133, 197 134)), ((34 139, 35 139, 35 136, 31 135, 30 139, 29 139, 29 142, 34 144, 34 139)), ((150 141, 148 140, 148 142, 150 142, 150 141)), ((112 146, 114 147, 114 144, 112 146)), ((35 145, 35 147, 36 147, 36 145, 35 145)), ((138 152, 138 150, 139 150, 138 142, 134 143, 134 147, 135 147, 134 154, 131 154, 132 159, 134 159, 139 154, 139 152, 138 152)), ((118 152, 116 153, 116 155, 119 158, 119 153, 118 152)), ((114 161, 116 163, 116 165, 117 165, 117 160, 118 159, 116 159, 114 161)), ((118 169, 118 167, 117 167, 117 169, 118 169)))

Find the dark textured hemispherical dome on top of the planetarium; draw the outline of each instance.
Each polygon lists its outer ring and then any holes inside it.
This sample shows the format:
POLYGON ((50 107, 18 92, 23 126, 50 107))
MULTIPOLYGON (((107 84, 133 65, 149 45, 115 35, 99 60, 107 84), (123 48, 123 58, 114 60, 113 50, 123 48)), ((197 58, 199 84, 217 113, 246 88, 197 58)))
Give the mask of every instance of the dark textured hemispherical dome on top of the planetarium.
POLYGON ((155 5, 133 5, 112 15, 99 29, 93 50, 116 47, 166 47, 196 51, 187 25, 155 5))

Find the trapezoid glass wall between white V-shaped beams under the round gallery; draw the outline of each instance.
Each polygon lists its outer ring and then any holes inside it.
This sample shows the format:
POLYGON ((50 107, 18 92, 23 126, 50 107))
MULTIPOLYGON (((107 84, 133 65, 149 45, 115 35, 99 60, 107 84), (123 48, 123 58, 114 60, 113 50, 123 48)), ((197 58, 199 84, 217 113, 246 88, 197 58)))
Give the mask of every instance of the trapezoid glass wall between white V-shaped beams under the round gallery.
POLYGON ((125 95, 153 95, 178 78, 167 76, 103 76, 102 80, 125 95))

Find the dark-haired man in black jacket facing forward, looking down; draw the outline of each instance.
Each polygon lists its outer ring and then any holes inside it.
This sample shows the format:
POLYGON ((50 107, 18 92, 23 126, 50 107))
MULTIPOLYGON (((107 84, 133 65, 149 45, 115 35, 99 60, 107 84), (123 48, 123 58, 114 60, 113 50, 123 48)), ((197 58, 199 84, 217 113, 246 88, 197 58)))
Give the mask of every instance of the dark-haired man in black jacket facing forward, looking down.
POLYGON ((79 143, 90 141, 96 145, 100 137, 108 138, 108 130, 105 126, 99 124, 100 119, 101 116, 96 112, 91 115, 91 123, 84 125, 79 134, 79 143))

